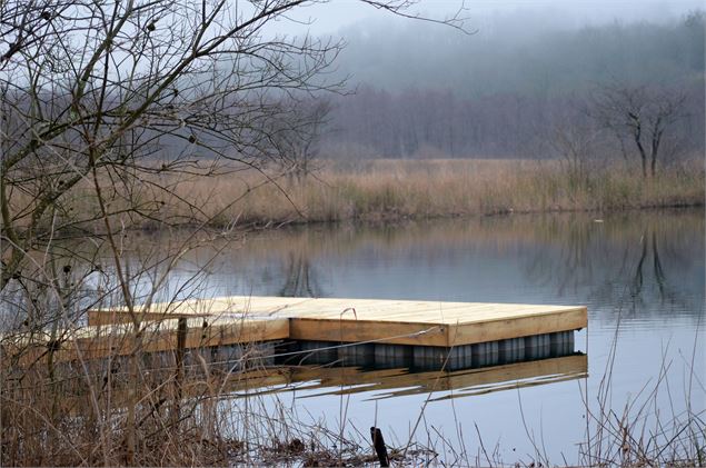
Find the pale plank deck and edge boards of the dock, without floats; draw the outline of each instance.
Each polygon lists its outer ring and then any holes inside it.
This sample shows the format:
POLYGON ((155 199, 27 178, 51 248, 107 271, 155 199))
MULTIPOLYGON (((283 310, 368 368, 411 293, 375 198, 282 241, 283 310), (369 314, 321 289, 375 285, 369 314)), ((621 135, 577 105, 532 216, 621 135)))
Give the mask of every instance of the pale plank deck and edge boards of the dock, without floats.
MULTIPOLYGON (((125 321, 126 309, 92 310, 89 325, 125 321), (107 319, 107 317, 110 317, 107 319)), ((376 341, 454 347, 570 331, 587 326, 586 307, 230 296, 156 303, 146 320, 183 317, 287 319, 289 336, 312 341, 376 341)), ((255 341, 265 341, 262 336, 255 341)))

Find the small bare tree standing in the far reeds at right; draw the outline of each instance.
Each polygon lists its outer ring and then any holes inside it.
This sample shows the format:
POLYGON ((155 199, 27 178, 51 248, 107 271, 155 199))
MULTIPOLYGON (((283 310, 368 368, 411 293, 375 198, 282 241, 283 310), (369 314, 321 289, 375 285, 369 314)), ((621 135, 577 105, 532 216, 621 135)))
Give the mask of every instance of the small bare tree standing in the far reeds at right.
POLYGON ((667 89, 605 86, 594 96, 591 114, 613 131, 624 152, 626 142, 632 141, 643 177, 654 177, 664 152, 665 131, 684 117, 685 99, 684 93, 667 89))

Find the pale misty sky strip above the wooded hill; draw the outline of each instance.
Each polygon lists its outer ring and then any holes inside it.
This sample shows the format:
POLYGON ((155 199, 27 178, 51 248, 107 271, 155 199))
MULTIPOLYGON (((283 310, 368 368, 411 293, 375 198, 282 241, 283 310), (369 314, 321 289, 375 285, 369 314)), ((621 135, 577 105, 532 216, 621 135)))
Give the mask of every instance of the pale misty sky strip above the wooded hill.
MULTIPOLYGON (((497 16, 526 16, 528 21, 553 19, 567 27, 605 23, 610 21, 668 21, 684 13, 704 9, 700 0, 420 0, 409 12, 435 19, 461 13, 468 29, 483 30, 497 16)), ((358 0, 331 0, 314 4, 292 14, 292 21, 279 21, 278 32, 302 34, 307 30, 316 36, 338 36, 341 30, 366 23, 400 21, 389 12, 362 4, 358 0)))

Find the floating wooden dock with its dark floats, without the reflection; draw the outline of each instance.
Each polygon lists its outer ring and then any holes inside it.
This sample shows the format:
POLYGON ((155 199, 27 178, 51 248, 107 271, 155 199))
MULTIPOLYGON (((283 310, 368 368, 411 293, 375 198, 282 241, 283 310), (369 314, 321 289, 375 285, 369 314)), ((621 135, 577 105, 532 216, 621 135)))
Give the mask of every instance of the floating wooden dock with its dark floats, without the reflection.
MULTIPOLYGON (((309 362, 335 356, 354 366, 417 368, 561 356, 574 348, 574 330, 587 326, 586 307, 519 303, 231 296, 138 310, 147 352, 284 341, 296 343, 290 352, 314 355, 309 362)), ((88 326, 52 343, 57 358, 130 354, 131 321, 125 308, 90 310, 88 326)))

